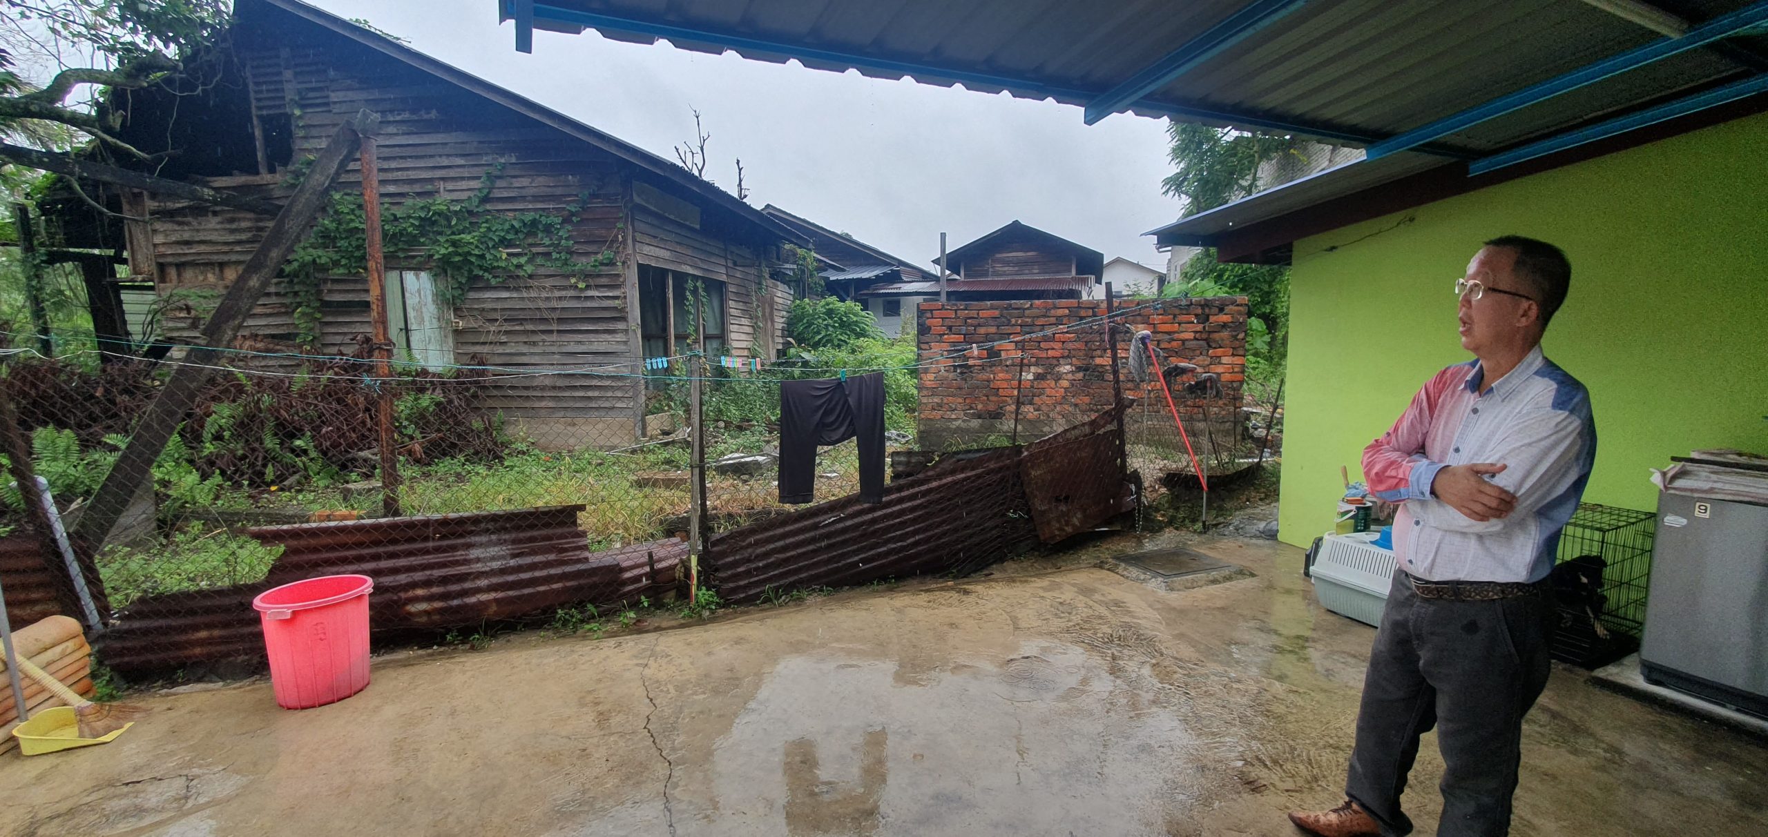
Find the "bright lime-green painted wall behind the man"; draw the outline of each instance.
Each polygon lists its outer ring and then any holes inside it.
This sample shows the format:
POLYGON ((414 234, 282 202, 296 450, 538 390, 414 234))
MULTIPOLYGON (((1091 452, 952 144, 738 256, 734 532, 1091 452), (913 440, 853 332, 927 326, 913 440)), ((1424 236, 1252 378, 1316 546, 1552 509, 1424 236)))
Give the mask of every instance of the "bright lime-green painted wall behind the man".
POLYGON ((1703 447, 1768 452, 1768 115, 1296 242, 1282 540, 1331 526, 1437 369, 1467 360, 1453 279, 1505 233, 1558 244, 1572 293, 1542 343, 1589 387, 1584 500, 1657 509, 1648 468, 1703 447))

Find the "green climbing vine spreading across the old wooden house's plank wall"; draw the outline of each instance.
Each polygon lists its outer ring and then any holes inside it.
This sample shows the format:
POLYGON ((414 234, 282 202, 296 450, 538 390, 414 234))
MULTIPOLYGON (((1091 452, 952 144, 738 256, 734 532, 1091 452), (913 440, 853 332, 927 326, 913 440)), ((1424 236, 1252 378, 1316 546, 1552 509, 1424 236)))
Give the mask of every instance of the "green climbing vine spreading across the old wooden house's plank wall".
MULTIPOLYGON (((495 212, 486 207, 504 164, 486 170, 479 189, 467 198, 412 198, 382 205, 380 240, 389 263, 421 265, 435 275, 438 295, 451 305, 467 298, 474 281, 500 284, 509 277, 529 277, 536 268, 564 272, 578 288, 589 288, 585 275, 619 261, 617 240, 624 222, 592 258, 573 256, 573 226, 580 221, 589 192, 550 212, 495 212)), ((304 177, 295 166, 293 175, 304 177)), ((325 214, 313 233, 301 242, 285 265, 293 281, 295 328, 304 346, 318 344, 320 283, 327 275, 362 275, 368 272, 368 244, 362 226, 362 196, 332 192, 325 214)))

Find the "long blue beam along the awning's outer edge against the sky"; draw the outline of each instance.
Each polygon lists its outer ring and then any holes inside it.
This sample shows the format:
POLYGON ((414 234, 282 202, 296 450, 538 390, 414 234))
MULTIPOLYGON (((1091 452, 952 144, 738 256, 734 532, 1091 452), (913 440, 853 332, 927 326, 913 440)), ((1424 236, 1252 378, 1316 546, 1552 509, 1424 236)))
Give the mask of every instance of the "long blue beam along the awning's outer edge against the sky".
MULTIPOLYGON (((507 4, 511 0, 502 0, 502 2, 507 4)), ((520 0, 516 0, 516 2, 520 2, 520 0)), ((534 2, 534 0, 530 0, 530 2, 534 2)), ((1768 2, 1768 0, 1764 0, 1764 2, 1768 2)), ((513 12, 514 9, 509 9, 509 11, 513 12)), ((785 55, 785 57, 792 57, 792 58, 799 58, 799 60, 808 60, 808 62, 829 62, 829 64, 842 64, 842 65, 847 65, 847 67, 866 67, 866 69, 884 71, 884 72, 902 72, 903 76, 914 76, 918 79, 941 78, 941 79, 951 79, 951 81, 964 83, 964 85, 978 85, 978 87, 985 87, 985 88, 990 88, 990 87, 992 88, 1002 88, 1004 87, 1004 88, 1010 88, 1010 90, 1022 90, 1022 92, 1029 92, 1029 94, 1036 94, 1036 95, 1061 97, 1061 99, 1071 99, 1071 101, 1093 101, 1094 97, 1100 95, 1098 90, 1075 90, 1075 88, 1043 85, 1043 83, 1038 83, 1038 81, 1027 81, 1027 79, 1022 79, 1022 78, 995 76, 995 74, 988 74, 988 72, 969 72, 969 71, 958 71, 958 69, 942 69, 942 67, 932 67, 932 65, 925 65, 925 64, 912 64, 912 62, 898 62, 898 60, 891 60, 891 58, 879 58, 879 57, 873 57, 873 55, 842 53, 842 51, 836 51, 836 49, 820 49, 820 48, 813 48, 813 46, 785 44, 785 42, 776 42, 776 41, 762 41, 762 39, 755 39, 755 37, 732 35, 732 34, 725 34, 725 32, 707 32, 707 30, 688 28, 688 26, 672 26, 672 25, 667 25, 667 23, 652 23, 652 21, 644 21, 644 19, 617 18, 617 16, 612 16, 612 14, 596 14, 596 12, 578 11, 578 9, 564 9, 564 7, 550 5, 550 4, 545 4, 545 2, 534 2, 534 19, 530 21, 529 30, 532 32, 532 25, 534 23, 541 23, 541 21, 545 21, 545 23, 569 23, 569 25, 576 25, 576 26, 589 26, 589 28, 610 30, 610 32, 631 32, 635 35, 651 35, 651 37, 661 37, 661 39, 667 39, 667 41, 695 41, 695 42, 702 42, 702 44, 721 46, 725 49, 737 49, 737 51, 748 51, 748 53, 785 55)), ((520 19, 516 21, 516 39, 518 39, 516 46, 520 49, 522 48, 522 21, 520 19)), ((1266 117, 1255 117, 1255 115, 1250 115, 1250 113, 1216 111, 1216 109, 1211 109, 1211 108, 1190 108, 1190 106, 1167 104, 1167 102, 1142 102, 1142 108, 1147 108, 1151 111, 1169 113, 1169 115, 1177 117, 1177 118, 1192 118, 1192 120, 1204 120, 1204 122, 1220 122, 1220 124, 1229 124, 1229 125, 1238 125, 1238 127, 1248 127, 1248 129, 1261 129, 1261 131, 1273 131, 1273 132, 1282 132, 1282 134, 1307 134, 1307 136, 1317 136, 1317 138, 1322 138, 1322 140, 1337 140, 1340 143, 1349 143, 1349 145, 1368 145, 1368 143, 1374 143, 1374 141, 1379 140, 1379 138, 1370 136, 1370 134, 1342 131, 1342 129, 1328 127, 1328 125, 1307 125, 1307 124, 1275 120, 1275 118, 1266 118, 1266 117)), ((1466 154, 1455 154, 1455 152, 1446 152, 1446 150, 1439 150, 1439 148, 1420 148, 1420 152, 1425 152, 1425 154, 1444 154, 1444 155, 1450 155, 1450 157, 1467 157, 1466 154)))

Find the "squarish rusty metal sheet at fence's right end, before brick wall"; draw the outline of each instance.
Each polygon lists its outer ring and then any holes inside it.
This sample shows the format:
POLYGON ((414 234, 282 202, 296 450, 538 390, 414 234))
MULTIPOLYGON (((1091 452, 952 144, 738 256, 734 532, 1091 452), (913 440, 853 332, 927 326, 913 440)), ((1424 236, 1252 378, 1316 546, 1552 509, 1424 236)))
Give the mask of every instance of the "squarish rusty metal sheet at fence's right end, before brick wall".
POLYGON ((1087 532, 1123 510, 1121 411, 1117 404, 1025 445, 1020 477, 1038 539, 1045 544, 1087 532))

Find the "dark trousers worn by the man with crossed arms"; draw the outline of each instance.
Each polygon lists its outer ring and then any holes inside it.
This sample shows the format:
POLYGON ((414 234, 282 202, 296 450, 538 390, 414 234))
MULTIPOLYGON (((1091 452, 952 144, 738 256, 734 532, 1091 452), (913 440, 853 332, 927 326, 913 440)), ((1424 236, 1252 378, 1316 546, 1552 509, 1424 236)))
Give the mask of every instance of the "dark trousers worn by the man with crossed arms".
POLYGON ((1547 685, 1554 604, 1538 593, 1476 602, 1423 599, 1395 572, 1356 715, 1345 795, 1388 835, 1400 812, 1418 736, 1437 728, 1443 749, 1439 837, 1503 835, 1522 758, 1522 715, 1547 685))

